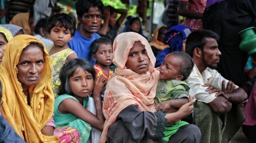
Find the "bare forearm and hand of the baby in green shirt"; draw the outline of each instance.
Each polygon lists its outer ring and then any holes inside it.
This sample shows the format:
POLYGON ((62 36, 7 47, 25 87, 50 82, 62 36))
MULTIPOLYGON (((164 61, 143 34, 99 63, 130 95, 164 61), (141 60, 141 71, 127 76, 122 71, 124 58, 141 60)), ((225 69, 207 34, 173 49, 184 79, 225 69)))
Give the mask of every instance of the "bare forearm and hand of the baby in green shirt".
POLYGON ((157 105, 157 110, 159 111, 162 109, 163 112, 167 112, 172 108, 179 109, 180 107, 182 107, 182 105, 186 104, 187 102, 189 102, 189 99, 186 97, 178 98, 175 100, 163 101, 157 105))

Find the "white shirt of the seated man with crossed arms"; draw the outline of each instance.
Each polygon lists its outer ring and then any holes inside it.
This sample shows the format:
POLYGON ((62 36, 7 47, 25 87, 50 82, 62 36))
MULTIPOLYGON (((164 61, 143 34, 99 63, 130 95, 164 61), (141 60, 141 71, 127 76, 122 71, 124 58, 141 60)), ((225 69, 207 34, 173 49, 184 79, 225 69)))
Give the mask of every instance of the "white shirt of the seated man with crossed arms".
MULTIPOLYGON (((187 80, 189 81, 190 95, 198 101, 205 103, 212 102, 216 98, 216 93, 209 94, 208 91, 206 91, 208 87, 202 85, 210 83, 218 89, 222 89, 222 81, 226 81, 225 87, 227 86, 227 82, 229 82, 229 80, 223 78, 215 69, 207 67, 201 74, 196 65, 194 65, 187 80)), ((236 87, 238 88, 238 86, 236 87)))

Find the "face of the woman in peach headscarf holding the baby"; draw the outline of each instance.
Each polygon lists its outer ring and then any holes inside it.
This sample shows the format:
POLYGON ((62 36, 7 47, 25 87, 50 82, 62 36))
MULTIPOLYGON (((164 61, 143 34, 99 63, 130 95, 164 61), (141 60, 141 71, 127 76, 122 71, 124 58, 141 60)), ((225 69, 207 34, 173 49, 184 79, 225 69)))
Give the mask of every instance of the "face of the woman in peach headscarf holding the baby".
POLYGON ((144 74, 150 66, 150 58, 140 41, 134 43, 127 57, 126 67, 137 74, 144 74))

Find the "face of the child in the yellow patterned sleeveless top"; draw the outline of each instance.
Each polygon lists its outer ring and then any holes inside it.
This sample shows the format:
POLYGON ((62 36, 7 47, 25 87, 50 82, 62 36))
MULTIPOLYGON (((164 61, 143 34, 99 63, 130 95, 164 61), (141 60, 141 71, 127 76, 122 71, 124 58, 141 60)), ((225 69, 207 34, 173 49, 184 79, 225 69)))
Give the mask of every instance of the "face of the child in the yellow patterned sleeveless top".
POLYGON ((65 27, 60 27, 57 23, 55 27, 51 29, 49 38, 54 42, 54 46, 62 47, 65 46, 73 37, 69 30, 66 30, 65 27))

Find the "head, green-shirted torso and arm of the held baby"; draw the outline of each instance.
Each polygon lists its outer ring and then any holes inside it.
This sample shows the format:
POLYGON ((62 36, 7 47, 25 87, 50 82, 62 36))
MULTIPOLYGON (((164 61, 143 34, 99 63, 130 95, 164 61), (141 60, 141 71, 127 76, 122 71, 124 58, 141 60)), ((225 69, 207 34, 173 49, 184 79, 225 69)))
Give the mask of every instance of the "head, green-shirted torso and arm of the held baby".
POLYGON ((159 83, 155 104, 157 110, 175 112, 189 101, 189 86, 184 81, 194 67, 189 54, 172 52, 165 57, 159 68, 159 83))

